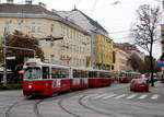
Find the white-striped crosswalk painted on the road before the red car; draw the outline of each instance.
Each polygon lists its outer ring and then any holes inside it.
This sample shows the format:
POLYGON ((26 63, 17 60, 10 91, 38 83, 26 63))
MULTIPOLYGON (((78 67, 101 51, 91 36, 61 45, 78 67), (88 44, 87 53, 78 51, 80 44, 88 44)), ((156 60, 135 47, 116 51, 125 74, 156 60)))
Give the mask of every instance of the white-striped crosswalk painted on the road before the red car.
POLYGON ((93 100, 108 100, 108 98, 114 98, 114 100, 157 100, 160 98, 159 94, 116 94, 116 93, 105 93, 105 94, 91 94, 87 97, 93 98, 93 100))

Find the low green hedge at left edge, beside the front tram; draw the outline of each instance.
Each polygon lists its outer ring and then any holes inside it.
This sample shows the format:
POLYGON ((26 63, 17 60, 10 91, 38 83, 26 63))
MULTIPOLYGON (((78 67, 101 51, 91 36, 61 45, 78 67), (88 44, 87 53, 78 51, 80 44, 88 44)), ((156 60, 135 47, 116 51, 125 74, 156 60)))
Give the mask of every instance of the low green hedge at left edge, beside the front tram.
POLYGON ((0 85, 0 90, 21 90, 22 84, 7 84, 7 85, 0 85))

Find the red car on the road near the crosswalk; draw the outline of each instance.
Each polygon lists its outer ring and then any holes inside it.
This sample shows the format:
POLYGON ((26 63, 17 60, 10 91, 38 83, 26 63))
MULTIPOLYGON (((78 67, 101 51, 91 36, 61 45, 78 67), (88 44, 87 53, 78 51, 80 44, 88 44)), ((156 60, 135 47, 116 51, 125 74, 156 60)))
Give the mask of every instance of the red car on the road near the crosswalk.
POLYGON ((130 84, 130 91, 149 92, 149 81, 147 79, 133 79, 130 84))

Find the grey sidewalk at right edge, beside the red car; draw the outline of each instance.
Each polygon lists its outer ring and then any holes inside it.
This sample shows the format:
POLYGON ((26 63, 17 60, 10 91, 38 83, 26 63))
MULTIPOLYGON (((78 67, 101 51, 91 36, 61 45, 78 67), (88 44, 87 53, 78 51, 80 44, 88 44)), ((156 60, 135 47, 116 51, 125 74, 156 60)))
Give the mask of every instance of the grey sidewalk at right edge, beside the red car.
POLYGON ((155 82, 154 87, 150 86, 150 92, 157 93, 157 94, 164 94, 164 83, 161 83, 161 81, 155 82))

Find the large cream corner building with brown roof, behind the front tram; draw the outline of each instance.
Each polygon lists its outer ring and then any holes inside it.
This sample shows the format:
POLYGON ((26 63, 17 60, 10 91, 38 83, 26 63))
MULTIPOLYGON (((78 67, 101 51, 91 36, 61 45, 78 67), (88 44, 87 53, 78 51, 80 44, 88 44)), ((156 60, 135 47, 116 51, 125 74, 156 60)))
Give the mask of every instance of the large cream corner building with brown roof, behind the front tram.
POLYGON ((63 37, 55 42, 39 40, 45 59, 73 67, 90 67, 87 58, 91 56, 91 35, 80 26, 40 5, 0 4, 0 7, 4 8, 0 11, 1 40, 4 27, 10 34, 17 30, 38 40, 47 36, 63 37), (40 11, 34 12, 38 10, 37 8, 40 11))

